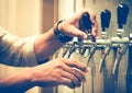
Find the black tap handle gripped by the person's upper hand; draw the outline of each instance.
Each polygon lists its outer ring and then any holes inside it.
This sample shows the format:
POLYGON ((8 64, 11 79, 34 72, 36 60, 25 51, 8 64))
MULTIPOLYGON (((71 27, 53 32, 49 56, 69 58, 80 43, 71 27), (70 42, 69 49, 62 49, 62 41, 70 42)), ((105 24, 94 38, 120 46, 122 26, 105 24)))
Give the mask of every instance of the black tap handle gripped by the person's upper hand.
POLYGON ((91 33, 92 23, 90 21, 90 15, 88 13, 84 13, 81 16, 81 20, 82 20, 85 30, 87 30, 87 33, 91 33))

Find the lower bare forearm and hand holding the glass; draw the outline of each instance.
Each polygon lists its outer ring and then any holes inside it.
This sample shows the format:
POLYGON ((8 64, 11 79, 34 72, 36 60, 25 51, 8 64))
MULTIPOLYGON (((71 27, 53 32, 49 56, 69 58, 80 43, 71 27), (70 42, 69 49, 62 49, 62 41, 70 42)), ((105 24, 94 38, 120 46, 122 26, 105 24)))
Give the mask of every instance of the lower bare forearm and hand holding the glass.
POLYGON ((0 78, 0 91, 3 93, 23 93, 33 86, 61 84, 74 89, 80 86, 80 82, 86 81, 85 73, 87 71, 87 67, 78 61, 63 58, 54 59, 44 65, 25 68, 0 78))

